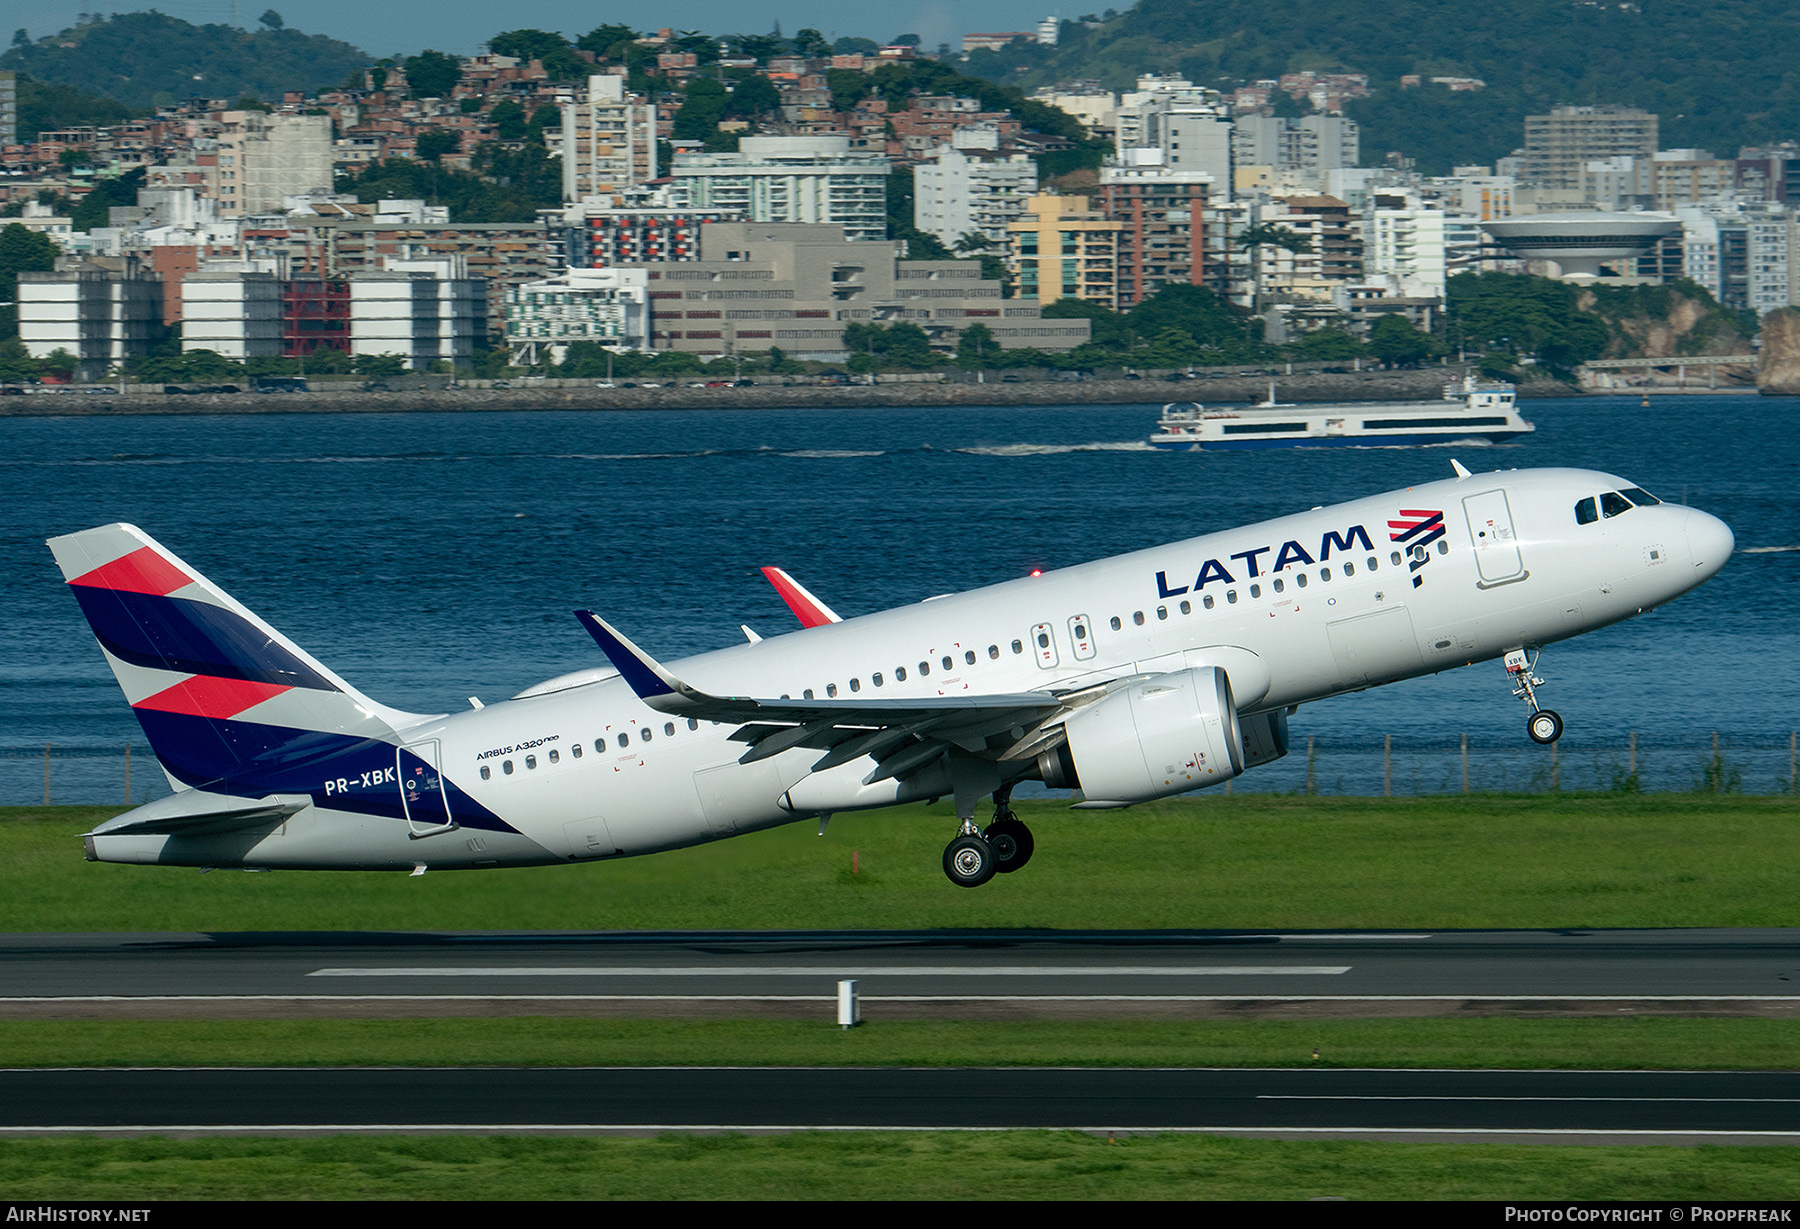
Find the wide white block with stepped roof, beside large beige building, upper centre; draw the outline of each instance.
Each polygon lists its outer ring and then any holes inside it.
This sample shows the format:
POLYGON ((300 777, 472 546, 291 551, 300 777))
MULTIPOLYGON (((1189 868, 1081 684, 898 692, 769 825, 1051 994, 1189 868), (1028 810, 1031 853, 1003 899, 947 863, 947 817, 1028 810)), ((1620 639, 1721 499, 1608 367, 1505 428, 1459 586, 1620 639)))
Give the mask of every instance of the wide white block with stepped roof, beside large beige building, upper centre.
POLYGON ((835 223, 851 239, 887 238, 889 162, 850 137, 745 137, 738 153, 677 153, 671 200, 751 221, 835 223))

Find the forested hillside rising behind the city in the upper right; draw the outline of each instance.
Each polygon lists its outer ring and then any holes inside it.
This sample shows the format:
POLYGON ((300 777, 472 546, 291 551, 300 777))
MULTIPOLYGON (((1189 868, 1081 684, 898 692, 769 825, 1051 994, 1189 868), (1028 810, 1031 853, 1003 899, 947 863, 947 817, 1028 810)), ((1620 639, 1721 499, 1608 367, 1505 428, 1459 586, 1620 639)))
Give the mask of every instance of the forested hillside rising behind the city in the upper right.
POLYGON ((1523 119, 1557 104, 1620 103, 1661 117, 1665 148, 1733 153, 1800 135, 1800 9, 1784 0, 1141 0, 1064 22, 1057 47, 1022 40, 968 70, 1033 88, 1094 77, 1129 88, 1179 72, 1231 88, 1283 72, 1364 72, 1352 104, 1363 155, 1447 173, 1492 162, 1523 119), (1024 70, 1024 72, 1021 72, 1024 70), (1400 90, 1404 74, 1480 77, 1485 90, 1400 90))

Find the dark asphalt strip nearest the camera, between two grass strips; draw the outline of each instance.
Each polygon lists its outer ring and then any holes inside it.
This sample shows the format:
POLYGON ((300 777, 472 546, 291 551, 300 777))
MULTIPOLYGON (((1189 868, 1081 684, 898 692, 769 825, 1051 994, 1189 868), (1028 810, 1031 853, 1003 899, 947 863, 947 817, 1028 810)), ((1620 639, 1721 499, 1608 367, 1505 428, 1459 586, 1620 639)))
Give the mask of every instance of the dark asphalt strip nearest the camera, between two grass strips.
POLYGON ((1800 1141, 1796 1072, 1193 1069, 0 1071, 0 1134, 1226 1130, 1800 1141))

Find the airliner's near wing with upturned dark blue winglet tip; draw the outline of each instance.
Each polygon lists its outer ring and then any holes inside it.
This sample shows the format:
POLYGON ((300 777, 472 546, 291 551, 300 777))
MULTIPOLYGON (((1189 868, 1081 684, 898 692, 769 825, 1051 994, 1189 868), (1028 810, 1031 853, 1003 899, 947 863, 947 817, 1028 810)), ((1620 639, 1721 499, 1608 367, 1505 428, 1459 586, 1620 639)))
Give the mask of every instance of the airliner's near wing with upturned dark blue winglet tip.
POLYGON ((715 696, 668 673, 655 659, 592 610, 576 617, 612 660, 632 691, 659 713, 736 723, 734 740, 749 743, 740 763, 767 759, 794 747, 823 750, 814 772, 873 756, 869 783, 916 772, 952 747, 988 759, 1026 759, 1062 741, 1062 716, 1107 687, 1078 693, 1021 691, 1010 695, 792 700, 715 696))

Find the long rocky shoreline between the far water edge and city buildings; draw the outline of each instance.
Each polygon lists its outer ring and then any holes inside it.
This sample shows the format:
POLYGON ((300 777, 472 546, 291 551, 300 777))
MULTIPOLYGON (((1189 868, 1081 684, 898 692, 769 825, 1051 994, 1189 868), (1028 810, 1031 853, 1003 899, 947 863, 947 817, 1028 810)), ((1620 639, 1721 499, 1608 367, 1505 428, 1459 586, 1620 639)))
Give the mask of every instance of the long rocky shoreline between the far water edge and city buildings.
MULTIPOLYGON (((1280 401, 1435 401, 1444 385, 1462 378, 1460 369, 1294 372, 1274 376, 1280 401)), ((97 414, 410 414, 495 410, 772 410, 772 408, 864 408, 864 407, 976 407, 976 405, 1163 405, 1202 401, 1231 405, 1269 396, 1269 376, 1229 380, 1084 380, 988 381, 988 383, 878 383, 878 385, 785 385, 695 389, 686 383, 662 389, 517 387, 517 389, 425 389, 364 390, 320 387, 308 392, 58 392, 0 398, 0 416, 97 416, 97 414)), ((1532 383, 1521 398, 1580 396, 1564 383, 1532 383)))

